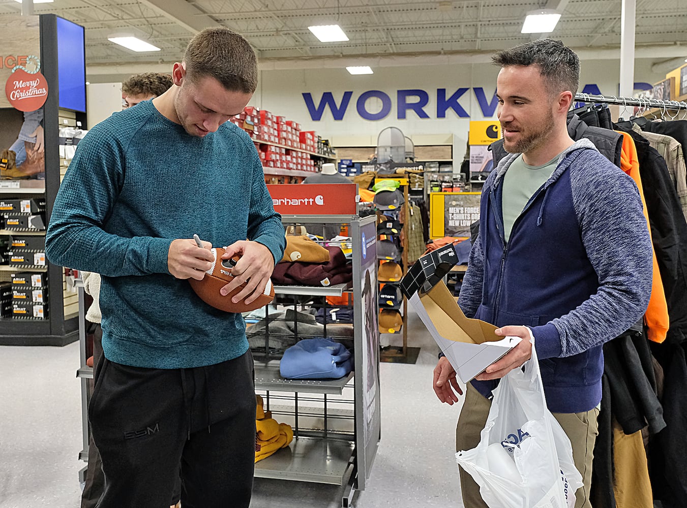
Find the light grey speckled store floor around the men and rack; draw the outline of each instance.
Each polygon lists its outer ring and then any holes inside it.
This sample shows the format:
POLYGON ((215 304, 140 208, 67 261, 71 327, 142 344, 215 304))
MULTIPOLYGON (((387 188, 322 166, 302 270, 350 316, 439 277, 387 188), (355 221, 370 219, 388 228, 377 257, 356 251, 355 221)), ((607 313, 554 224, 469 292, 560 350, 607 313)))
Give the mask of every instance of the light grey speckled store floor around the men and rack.
MULTIPOLYGON (((454 440, 458 406, 431 389, 438 349, 410 314, 415 365, 382 363, 381 433, 355 508, 462 507, 454 440)), ((389 343, 383 336, 382 343, 389 343)), ((77 508, 82 449, 78 344, 0 347, 0 508, 77 508)), ((329 485, 256 478, 252 507, 341 506, 329 485)))

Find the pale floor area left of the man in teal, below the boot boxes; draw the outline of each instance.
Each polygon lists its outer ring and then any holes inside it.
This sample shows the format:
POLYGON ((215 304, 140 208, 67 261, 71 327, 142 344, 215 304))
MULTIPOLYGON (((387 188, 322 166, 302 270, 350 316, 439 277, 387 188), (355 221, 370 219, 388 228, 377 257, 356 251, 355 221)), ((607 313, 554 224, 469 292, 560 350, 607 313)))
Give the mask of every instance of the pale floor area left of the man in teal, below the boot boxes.
POLYGON ((0 508, 77 508, 78 343, 0 347, 0 508))

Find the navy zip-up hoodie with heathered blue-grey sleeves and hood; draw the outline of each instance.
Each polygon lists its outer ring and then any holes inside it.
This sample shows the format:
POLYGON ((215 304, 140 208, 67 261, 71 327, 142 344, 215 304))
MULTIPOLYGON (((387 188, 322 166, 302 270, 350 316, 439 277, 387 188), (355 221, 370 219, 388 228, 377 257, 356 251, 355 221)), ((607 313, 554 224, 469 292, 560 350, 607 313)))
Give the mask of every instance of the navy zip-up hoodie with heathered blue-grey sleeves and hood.
MULTIPOLYGON (((651 239, 637 186, 581 139, 565 150, 504 240, 502 159, 482 189, 480 233, 459 304, 466 316, 532 330, 553 413, 601 400, 602 345, 644 314, 651 239)), ((473 380, 488 396, 497 381, 473 380)))

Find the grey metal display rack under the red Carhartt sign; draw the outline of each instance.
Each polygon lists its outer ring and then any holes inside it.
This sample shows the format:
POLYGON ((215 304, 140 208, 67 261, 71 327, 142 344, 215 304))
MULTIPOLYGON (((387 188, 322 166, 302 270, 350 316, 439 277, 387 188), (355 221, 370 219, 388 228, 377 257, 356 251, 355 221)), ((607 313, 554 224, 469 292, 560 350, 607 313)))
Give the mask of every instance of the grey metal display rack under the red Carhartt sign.
MULTIPOLYGON (((347 224, 352 246, 352 287, 275 286, 277 295, 328 297, 350 294, 353 302, 354 370, 336 380, 289 380, 279 373, 278 360, 256 357, 256 393, 266 411, 279 422, 291 424, 291 444, 256 463, 255 476, 289 481, 341 485, 342 507, 350 507, 356 490, 365 489, 380 439, 379 330, 376 289, 376 218, 358 216, 282 216, 284 224, 347 224), (367 240, 365 240, 367 239, 367 240), (365 247, 363 247, 365 244, 365 247), (365 277, 370 295, 363 295, 365 277), (372 302, 372 305, 370 305, 372 302), (370 346, 372 345, 372 346, 370 346)), ((79 288, 80 369, 83 450, 88 460, 89 380, 93 369, 85 333, 85 292, 79 288)), ((79 472, 85 481, 86 467, 79 472)))

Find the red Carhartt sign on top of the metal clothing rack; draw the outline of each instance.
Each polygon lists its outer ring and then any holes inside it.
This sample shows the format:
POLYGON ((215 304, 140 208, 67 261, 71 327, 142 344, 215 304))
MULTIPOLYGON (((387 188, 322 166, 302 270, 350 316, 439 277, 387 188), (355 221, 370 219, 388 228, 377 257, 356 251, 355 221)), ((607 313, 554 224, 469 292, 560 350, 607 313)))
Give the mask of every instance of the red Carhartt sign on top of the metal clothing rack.
POLYGON ((275 211, 282 215, 355 215, 354 183, 277 183, 267 185, 275 211))

